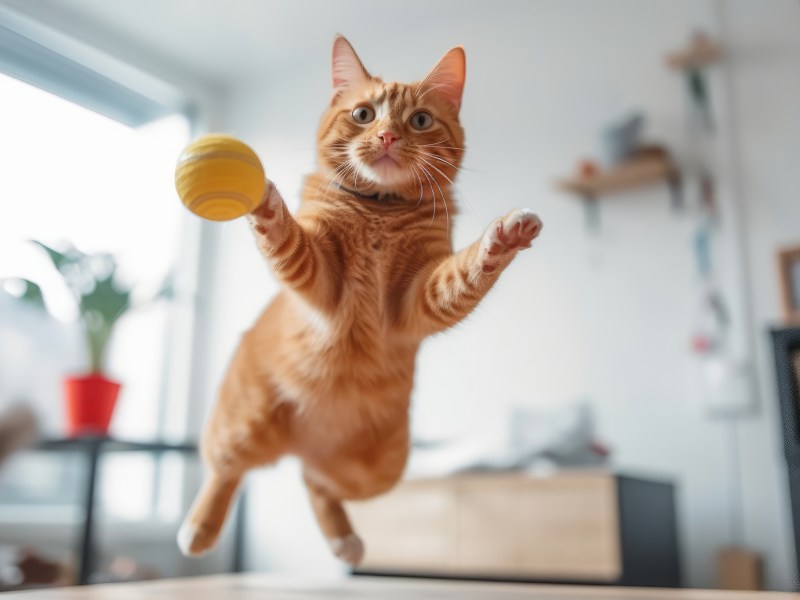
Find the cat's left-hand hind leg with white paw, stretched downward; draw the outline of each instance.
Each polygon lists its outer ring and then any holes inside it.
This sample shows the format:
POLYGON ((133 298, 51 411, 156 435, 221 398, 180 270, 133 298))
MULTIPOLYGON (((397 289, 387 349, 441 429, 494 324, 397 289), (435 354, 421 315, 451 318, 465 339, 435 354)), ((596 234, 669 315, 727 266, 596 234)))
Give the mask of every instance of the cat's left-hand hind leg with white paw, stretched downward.
POLYGON ((215 473, 206 480, 178 530, 178 547, 185 556, 198 556, 214 546, 240 482, 241 477, 215 473))

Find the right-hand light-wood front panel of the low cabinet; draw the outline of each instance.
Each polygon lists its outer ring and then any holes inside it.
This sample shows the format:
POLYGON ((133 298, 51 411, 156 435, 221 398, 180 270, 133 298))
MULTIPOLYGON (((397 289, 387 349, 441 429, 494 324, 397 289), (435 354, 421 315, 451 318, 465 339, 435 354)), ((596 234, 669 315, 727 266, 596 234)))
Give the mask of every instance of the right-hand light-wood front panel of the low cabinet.
POLYGON ((621 574, 612 477, 465 479, 458 499, 462 573, 606 581, 621 574))

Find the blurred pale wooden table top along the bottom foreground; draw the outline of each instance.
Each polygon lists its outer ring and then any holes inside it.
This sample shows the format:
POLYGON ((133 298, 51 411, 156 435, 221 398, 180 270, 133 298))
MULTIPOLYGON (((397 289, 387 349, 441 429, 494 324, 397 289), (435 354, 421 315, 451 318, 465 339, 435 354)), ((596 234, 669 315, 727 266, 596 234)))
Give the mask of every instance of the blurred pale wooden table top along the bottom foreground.
POLYGON ((255 573, 2 594, 2 600, 800 600, 800 594, 511 585, 355 577, 313 583, 255 573))

